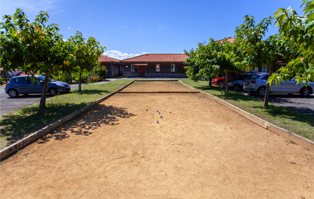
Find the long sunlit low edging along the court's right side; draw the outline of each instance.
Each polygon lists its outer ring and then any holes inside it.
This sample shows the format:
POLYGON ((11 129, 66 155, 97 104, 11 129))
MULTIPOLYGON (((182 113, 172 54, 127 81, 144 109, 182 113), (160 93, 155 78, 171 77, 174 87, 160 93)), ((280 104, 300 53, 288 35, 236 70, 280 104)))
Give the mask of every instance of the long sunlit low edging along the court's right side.
MULTIPOLYGON (((189 85, 181 82, 180 80, 179 80, 179 82, 182 83, 183 85, 191 88, 191 89, 195 89, 192 86, 189 86, 189 85)), ((195 90, 198 90, 198 89, 195 89, 195 90)), ((293 132, 290 132, 288 130, 285 130, 283 128, 280 128, 279 126, 276 126, 276 125, 269 123, 265 120, 262 120, 261 118, 256 117, 256 116, 254 116, 254 115, 252 115, 252 114, 250 114, 250 113, 248 113, 242 109, 239 109, 238 107, 231 105, 228 102, 219 99, 218 97, 215 97, 211 94, 205 93, 205 92, 200 91, 200 90, 198 90, 198 91, 200 93, 202 93, 203 95, 205 95, 206 97, 219 102, 220 104, 228 107, 229 109, 235 111, 236 113, 240 114, 241 116, 251 120, 252 122, 254 122, 256 124, 258 124, 259 126, 262 126, 263 128, 268 129, 269 131, 272 131, 278 135, 281 135, 282 137, 289 139, 292 142, 298 143, 298 144, 300 144, 300 145, 302 145, 302 146, 304 146, 310 150, 314 150, 314 142, 313 141, 306 139, 305 137, 299 136, 299 135, 297 135, 293 132)))

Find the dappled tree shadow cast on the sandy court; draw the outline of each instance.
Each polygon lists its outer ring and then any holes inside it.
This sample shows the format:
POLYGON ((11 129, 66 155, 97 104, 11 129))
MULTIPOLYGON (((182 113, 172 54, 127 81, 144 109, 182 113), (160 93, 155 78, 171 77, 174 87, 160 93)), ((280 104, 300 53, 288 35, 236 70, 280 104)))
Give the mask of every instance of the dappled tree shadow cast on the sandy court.
MULTIPOLYGON (((98 104, 92 109, 86 111, 84 114, 77 116, 74 120, 74 124, 71 126, 63 125, 58 132, 51 133, 49 138, 55 140, 62 140, 70 137, 71 134, 88 136, 92 134, 92 131, 103 125, 119 125, 120 118, 129 118, 135 116, 127 111, 127 108, 106 106, 98 104), (70 133, 67 133, 67 132, 70 133)), ((48 139, 41 139, 39 142, 47 142, 48 139)))

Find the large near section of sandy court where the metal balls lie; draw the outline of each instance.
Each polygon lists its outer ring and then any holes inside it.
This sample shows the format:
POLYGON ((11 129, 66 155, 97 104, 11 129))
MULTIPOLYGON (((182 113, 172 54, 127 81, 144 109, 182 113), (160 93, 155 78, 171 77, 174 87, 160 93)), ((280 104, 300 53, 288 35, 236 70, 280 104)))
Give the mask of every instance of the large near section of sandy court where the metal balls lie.
POLYGON ((0 190, 3 199, 308 199, 313 155, 200 93, 115 94, 7 159, 0 190))

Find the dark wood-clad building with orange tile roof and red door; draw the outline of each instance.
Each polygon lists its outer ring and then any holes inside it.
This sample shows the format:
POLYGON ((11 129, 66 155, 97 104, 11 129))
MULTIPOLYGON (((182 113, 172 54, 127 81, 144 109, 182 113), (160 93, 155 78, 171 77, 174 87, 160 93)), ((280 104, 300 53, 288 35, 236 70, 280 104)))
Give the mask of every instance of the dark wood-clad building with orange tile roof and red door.
POLYGON ((144 54, 121 60, 124 78, 186 78, 186 54, 144 54))

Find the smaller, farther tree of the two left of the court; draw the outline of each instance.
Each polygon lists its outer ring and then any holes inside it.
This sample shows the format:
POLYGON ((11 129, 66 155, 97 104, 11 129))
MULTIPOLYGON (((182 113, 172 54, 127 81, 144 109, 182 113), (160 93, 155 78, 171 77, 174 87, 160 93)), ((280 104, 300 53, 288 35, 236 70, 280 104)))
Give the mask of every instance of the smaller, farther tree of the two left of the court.
POLYGON ((83 38, 81 32, 77 31, 75 36, 71 36, 68 40, 70 46, 74 46, 71 50, 71 65, 79 73, 78 90, 82 89, 82 72, 91 73, 100 67, 98 58, 106 46, 100 46, 100 42, 95 37, 89 37, 88 40, 83 38))

